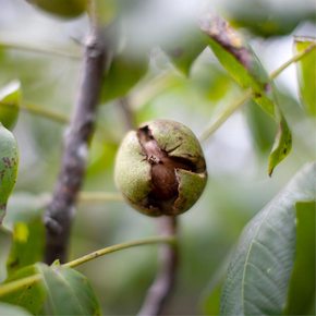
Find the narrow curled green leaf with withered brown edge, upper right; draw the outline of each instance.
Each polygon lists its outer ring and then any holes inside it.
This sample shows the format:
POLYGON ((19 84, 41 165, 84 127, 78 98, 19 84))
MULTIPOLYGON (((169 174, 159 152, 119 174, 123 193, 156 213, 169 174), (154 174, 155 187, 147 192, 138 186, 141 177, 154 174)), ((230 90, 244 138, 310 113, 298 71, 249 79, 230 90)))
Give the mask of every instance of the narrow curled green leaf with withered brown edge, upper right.
POLYGON ((279 132, 275 139, 268 172, 290 153, 292 136, 287 121, 274 96, 274 85, 256 54, 229 24, 219 17, 206 19, 200 23, 202 31, 208 35, 208 42, 223 68, 243 88, 253 90, 253 100, 275 121, 279 132))

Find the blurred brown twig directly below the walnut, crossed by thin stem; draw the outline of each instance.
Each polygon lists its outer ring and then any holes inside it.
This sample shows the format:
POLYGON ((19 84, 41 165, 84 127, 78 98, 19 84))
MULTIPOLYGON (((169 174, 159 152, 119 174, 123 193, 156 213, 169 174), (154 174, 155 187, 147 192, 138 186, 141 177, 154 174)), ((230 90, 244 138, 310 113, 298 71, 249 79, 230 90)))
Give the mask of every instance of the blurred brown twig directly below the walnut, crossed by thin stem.
MULTIPOLYGON (((175 217, 161 217, 158 220, 160 223, 159 230, 162 235, 177 235, 175 217)), ((159 259, 159 271, 147 292, 138 316, 161 315, 175 284, 179 263, 178 245, 162 245, 159 259)))

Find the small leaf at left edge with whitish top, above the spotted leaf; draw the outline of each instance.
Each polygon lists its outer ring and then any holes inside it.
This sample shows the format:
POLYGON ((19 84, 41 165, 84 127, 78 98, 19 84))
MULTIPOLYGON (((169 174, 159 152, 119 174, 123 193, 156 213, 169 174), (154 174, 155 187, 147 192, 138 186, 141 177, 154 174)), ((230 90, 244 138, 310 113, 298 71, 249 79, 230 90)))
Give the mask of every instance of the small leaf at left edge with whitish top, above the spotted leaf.
POLYGON ((0 90, 0 122, 8 130, 12 130, 16 123, 21 96, 19 81, 11 82, 0 90))

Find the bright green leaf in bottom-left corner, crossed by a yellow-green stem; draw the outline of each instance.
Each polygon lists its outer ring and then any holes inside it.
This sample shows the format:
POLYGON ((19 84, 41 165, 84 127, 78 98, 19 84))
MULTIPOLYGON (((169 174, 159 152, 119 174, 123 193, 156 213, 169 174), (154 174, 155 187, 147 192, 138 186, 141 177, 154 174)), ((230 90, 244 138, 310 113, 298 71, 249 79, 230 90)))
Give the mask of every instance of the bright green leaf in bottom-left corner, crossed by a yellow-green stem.
MULTIPOLYGON (((22 278, 34 276, 38 272, 36 266, 28 266, 15 271, 10 276, 5 283, 19 280, 22 278)), ((42 305, 46 299, 46 291, 41 282, 35 282, 33 284, 21 287, 19 290, 1 296, 1 302, 19 305, 24 307, 29 313, 38 315, 42 309, 42 305)))

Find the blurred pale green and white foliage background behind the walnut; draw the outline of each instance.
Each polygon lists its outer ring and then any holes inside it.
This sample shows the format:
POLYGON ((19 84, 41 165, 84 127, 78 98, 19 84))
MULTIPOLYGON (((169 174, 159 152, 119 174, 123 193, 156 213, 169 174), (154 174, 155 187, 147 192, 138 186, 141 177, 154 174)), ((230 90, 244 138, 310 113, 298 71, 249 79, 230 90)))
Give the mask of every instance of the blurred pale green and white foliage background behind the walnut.
MULTIPOLYGON (((121 63, 118 61, 118 70, 112 70, 112 81, 105 80, 83 189, 88 192, 117 192, 112 177, 114 156, 129 130, 126 112, 118 97, 124 97, 136 124, 156 118, 171 119, 186 124, 198 136, 241 94, 208 48, 197 56, 190 76, 175 69, 167 50, 161 49, 178 40, 189 44, 192 40, 194 46, 194 36, 189 36, 187 29, 199 14, 210 10, 230 21, 268 72, 293 56, 294 36, 316 34, 313 0, 107 0, 100 4, 105 23, 120 20, 120 27, 113 27, 110 33, 120 35, 117 46, 122 59, 121 63)), ((22 104, 71 117, 82 41, 88 32, 87 16, 61 19, 21 0, 0 0, 0 88, 19 80, 22 104)), ((181 266, 167 315, 217 313, 218 294, 209 296, 210 290, 220 281, 243 227, 301 166, 316 157, 315 127, 300 101, 295 65, 282 72, 276 84, 293 133, 292 153, 269 178, 267 159, 276 126, 252 102, 202 144, 208 184, 196 205, 179 218, 181 266)), ((29 209, 52 191, 65 132, 63 123, 21 111, 14 129, 20 170, 9 212, 29 209)), ((155 234, 156 220, 123 202, 82 202, 73 227, 71 258, 155 234)), ((0 246, 2 280, 9 241, 1 240, 0 246)), ((90 280, 104 315, 134 315, 156 268, 155 245, 122 251, 83 265, 78 270, 90 280)))

